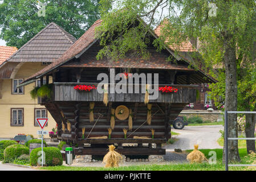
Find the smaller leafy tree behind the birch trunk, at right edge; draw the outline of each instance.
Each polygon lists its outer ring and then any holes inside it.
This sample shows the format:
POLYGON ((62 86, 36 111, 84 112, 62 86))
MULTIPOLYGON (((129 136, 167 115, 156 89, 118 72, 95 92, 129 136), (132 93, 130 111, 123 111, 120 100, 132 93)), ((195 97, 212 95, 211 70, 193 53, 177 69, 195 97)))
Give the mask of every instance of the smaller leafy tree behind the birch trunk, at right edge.
MULTIPOLYGON (((238 110, 256 111, 256 68, 254 65, 245 65, 238 61, 238 110)), ((225 102, 225 73, 223 69, 218 70, 218 82, 210 84, 210 98, 214 104, 221 108, 225 102)), ((242 114, 244 115, 244 114, 242 114)), ((255 114, 245 114, 245 134, 247 138, 254 138, 255 133, 255 114)), ((246 140, 246 148, 255 151, 255 141, 246 140)))

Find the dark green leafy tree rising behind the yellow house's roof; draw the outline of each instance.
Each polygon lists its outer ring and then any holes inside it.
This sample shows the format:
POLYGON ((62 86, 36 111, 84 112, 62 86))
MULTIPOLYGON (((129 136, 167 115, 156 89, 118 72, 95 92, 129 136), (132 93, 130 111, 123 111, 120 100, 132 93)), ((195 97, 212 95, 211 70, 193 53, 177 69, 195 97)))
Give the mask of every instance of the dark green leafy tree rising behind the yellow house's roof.
POLYGON ((40 2, 45 5, 45 16, 40 11, 43 6, 36 0, 0 1, 0 38, 7 46, 20 48, 51 22, 78 39, 99 19, 99 0, 40 2))

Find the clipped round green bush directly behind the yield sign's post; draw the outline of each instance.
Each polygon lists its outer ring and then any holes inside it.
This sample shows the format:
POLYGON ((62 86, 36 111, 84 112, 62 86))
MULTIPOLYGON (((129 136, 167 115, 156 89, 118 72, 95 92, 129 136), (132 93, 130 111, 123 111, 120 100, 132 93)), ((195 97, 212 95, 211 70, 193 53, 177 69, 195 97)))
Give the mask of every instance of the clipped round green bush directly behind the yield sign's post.
MULTIPOLYGON (((38 155, 38 152, 41 151, 41 148, 35 148, 30 153, 30 165, 38 166, 38 158, 41 155, 38 155)), ((55 147, 44 147, 43 151, 46 156, 46 166, 62 166, 63 158, 60 150, 55 147)))

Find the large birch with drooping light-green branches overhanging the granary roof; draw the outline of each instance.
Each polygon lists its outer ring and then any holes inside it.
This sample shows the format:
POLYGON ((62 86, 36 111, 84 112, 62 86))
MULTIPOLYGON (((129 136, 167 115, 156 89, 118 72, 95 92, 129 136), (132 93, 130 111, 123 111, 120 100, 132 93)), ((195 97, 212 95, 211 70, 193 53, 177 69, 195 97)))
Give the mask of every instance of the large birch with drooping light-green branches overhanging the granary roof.
MULTIPOLYGON (((237 110, 237 55, 251 59, 251 47, 256 38, 256 11, 253 0, 101 0, 102 26, 99 27, 104 48, 98 58, 113 60, 126 52, 149 56, 147 30, 163 23, 155 46, 161 50, 164 42, 180 46, 186 40, 200 42, 198 51, 208 65, 225 67, 226 110, 237 110), (209 4, 217 6, 212 14, 209 4), (112 5, 112 6, 111 6, 112 5), (107 11, 112 7, 111 11, 107 11), (163 14, 162 12, 167 14, 163 14), (145 26, 143 19, 148 23, 145 26), (139 22, 139 23, 138 23, 139 22), (111 40, 108 42, 108 40, 111 40)), ((207 65, 207 64, 206 64, 207 65)), ((237 137, 237 114, 229 114, 229 136, 237 137)), ((229 159, 240 160, 237 140, 229 140, 229 159)), ((224 146, 225 154, 225 146, 224 146)), ((225 156, 225 155, 224 155, 225 156)), ((224 159, 225 160, 225 159, 224 159)))

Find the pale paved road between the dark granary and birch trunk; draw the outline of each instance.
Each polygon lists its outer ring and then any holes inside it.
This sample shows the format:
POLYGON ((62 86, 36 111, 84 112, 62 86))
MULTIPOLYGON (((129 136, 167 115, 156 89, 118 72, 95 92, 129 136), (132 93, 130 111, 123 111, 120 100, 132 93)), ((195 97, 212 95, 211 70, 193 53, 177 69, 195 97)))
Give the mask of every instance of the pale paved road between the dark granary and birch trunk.
POLYGON ((224 130, 224 126, 185 126, 182 130, 172 128, 172 131, 180 133, 175 137, 178 141, 162 148, 166 148, 166 151, 174 151, 174 148, 189 150, 194 148, 194 144, 198 144, 201 149, 223 148, 217 143, 217 139, 221 137, 220 130, 224 130))

